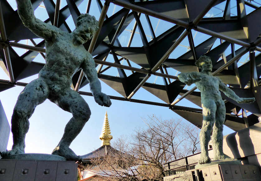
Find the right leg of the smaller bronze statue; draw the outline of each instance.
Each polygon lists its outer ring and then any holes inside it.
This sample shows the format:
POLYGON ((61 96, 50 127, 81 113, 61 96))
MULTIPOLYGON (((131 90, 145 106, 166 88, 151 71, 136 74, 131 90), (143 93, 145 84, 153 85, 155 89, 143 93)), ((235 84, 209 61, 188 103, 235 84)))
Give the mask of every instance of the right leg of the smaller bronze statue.
POLYGON ((223 102, 223 100, 221 100, 220 103, 217 104, 216 122, 213 126, 212 133, 212 144, 215 160, 232 159, 223 153, 223 124, 225 122, 225 113, 225 103, 223 102))

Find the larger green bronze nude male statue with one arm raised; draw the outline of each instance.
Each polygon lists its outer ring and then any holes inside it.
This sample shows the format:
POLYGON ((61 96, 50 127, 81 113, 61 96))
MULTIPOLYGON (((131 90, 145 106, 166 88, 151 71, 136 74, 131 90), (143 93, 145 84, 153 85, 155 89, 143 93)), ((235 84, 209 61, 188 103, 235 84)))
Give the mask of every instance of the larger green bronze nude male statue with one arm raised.
POLYGON ((98 30, 98 22, 94 16, 81 14, 77 19, 76 29, 67 33, 37 19, 30 0, 16 2, 24 25, 45 39, 46 64, 39 72, 39 78, 31 81, 18 97, 12 115, 12 150, 2 153, 2 157, 25 152, 28 119, 38 104, 49 99, 73 114, 52 154, 63 156, 67 160, 80 160, 69 146, 90 118, 91 111, 85 100, 70 88, 74 73, 83 69, 94 99, 99 105, 109 107, 112 104, 109 96, 101 92, 92 55, 82 45, 98 30))

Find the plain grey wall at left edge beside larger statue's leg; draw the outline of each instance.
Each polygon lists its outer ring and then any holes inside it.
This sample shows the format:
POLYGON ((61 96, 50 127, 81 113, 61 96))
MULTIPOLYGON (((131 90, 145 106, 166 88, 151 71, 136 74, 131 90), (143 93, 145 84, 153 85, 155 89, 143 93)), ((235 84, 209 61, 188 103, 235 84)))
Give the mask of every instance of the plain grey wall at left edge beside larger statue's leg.
MULTIPOLYGON (((10 126, 0 101, 0 151, 6 151, 10 135, 10 126)), ((1 158, 1 156, 0 156, 1 158)))

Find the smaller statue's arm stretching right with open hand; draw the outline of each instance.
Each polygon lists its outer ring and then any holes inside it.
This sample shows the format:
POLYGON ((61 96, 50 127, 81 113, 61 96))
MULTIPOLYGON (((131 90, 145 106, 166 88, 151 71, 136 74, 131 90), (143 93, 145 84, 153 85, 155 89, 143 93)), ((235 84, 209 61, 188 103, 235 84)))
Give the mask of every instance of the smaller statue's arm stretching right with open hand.
POLYGON ((255 101, 254 97, 251 98, 243 98, 243 97, 239 97, 235 94, 234 91, 232 91, 230 88, 228 88, 223 82, 219 83, 219 90, 221 90, 222 92, 224 92, 224 94, 226 96, 228 96, 230 99, 235 100, 237 103, 253 103, 255 101))

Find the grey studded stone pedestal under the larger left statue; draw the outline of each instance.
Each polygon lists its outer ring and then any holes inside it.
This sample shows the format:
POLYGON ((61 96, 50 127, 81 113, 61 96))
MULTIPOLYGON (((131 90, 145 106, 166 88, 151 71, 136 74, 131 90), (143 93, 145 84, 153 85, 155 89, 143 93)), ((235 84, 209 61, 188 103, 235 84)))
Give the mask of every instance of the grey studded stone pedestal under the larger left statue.
POLYGON ((77 181, 75 161, 0 160, 1 181, 77 181))

